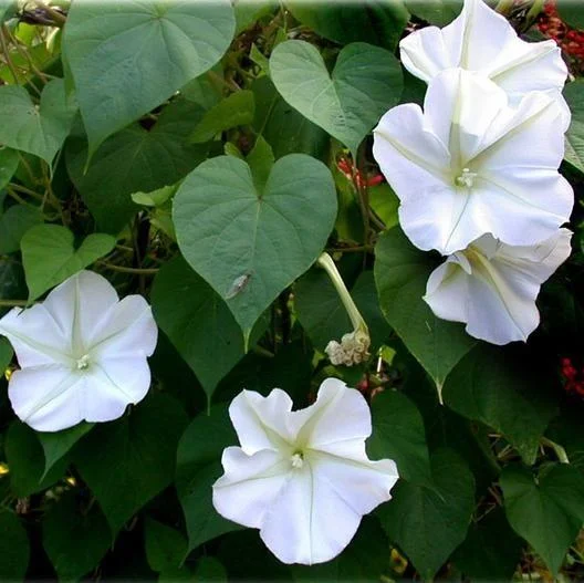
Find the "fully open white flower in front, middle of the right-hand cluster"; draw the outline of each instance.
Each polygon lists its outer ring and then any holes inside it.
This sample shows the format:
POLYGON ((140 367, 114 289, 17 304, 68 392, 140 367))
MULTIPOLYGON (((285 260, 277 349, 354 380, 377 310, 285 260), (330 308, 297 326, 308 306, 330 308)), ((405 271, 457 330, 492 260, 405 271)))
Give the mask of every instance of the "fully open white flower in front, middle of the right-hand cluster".
POLYGON ((510 107, 503 90, 461 69, 430 81, 424 113, 415 104, 389 110, 374 129, 373 154, 414 244, 450 254, 484 233, 512 246, 551 237, 574 204, 557 171, 561 116, 541 92, 510 107))

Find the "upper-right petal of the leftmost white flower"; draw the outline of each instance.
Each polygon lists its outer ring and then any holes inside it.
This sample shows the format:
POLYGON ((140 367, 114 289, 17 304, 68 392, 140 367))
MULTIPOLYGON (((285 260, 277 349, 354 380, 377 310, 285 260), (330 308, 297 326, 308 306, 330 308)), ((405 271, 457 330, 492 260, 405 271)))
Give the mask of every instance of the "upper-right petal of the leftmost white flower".
POLYGON ((113 305, 92 330, 86 342, 92 356, 150 356, 158 327, 142 295, 128 295, 113 305))

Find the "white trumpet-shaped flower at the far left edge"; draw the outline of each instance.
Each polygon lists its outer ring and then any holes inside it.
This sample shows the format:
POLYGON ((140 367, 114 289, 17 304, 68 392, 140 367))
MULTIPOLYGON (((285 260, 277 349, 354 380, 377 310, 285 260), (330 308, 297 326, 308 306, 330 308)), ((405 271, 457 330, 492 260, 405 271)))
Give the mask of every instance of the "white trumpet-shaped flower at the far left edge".
POLYGON ((119 301, 102 275, 81 271, 44 302, 14 308, 0 320, 20 369, 10 377, 10 403, 39 431, 82 420, 109 421, 150 386, 146 357, 158 330, 140 295, 119 301))

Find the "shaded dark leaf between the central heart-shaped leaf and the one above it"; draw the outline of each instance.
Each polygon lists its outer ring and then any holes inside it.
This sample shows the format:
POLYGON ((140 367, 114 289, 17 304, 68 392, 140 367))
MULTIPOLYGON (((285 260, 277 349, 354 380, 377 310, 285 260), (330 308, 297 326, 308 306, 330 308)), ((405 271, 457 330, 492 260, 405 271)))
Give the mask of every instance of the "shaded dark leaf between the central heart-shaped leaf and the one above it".
POLYGON ((251 91, 255 96, 253 127, 272 146, 277 159, 301 153, 325 160, 331 138, 322 127, 289 105, 267 76, 257 79, 251 91))

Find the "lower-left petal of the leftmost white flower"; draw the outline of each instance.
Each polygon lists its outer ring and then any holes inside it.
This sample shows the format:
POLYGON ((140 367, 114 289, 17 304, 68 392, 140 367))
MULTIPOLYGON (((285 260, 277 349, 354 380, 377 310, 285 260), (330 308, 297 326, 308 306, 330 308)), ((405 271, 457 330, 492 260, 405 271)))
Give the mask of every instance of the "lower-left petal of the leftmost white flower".
POLYGON ((80 423, 84 393, 84 376, 60 365, 15 371, 8 386, 14 413, 36 431, 60 431, 80 423))

